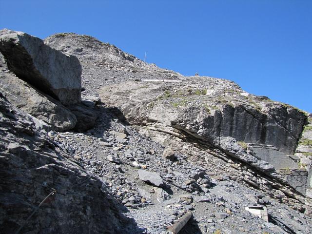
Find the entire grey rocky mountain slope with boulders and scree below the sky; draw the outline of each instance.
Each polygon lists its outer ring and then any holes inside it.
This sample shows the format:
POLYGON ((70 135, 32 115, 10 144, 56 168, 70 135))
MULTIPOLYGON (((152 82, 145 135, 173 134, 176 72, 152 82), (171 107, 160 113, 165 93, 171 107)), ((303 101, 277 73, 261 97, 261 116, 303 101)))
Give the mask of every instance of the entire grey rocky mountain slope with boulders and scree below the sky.
POLYGON ((158 234, 192 211, 179 233, 312 233, 311 114, 85 35, 1 30, 0 52, 1 232, 158 234))

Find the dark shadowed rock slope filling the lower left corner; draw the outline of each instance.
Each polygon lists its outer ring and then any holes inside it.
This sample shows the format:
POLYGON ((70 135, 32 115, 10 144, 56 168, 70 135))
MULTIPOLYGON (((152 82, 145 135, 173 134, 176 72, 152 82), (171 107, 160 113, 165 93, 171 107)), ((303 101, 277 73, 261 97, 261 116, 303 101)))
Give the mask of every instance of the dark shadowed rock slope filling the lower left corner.
POLYGON ((0 233, 144 233, 105 183, 51 148, 4 98, 0 116, 0 145, 9 145, 0 147, 0 233))

